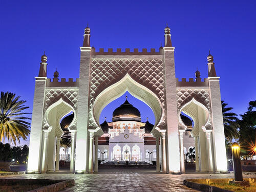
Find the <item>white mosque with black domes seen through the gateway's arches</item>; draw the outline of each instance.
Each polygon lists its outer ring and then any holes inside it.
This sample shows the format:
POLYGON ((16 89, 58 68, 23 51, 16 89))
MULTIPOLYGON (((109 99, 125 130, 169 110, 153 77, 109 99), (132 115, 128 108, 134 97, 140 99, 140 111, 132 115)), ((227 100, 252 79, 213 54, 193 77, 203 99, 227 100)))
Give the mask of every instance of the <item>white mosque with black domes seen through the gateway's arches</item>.
MULTIPOLYGON (((73 117, 74 114, 71 114, 63 118, 61 124, 69 126, 73 117)), ((181 119, 187 126, 183 140, 185 156, 189 148, 195 147, 195 140, 190 134, 193 121, 184 115, 181 115, 181 119)), ((105 120, 100 126, 104 133, 98 138, 99 160, 104 162, 156 161, 156 139, 151 134, 154 124, 151 124, 148 119, 146 122, 141 122, 140 111, 129 103, 127 96, 124 103, 114 110, 112 122, 105 120)), ((69 148, 61 148, 60 155, 63 150, 70 152, 69 148)), ((60 159, 69 161, 68 153, 66 157, 60 159)))

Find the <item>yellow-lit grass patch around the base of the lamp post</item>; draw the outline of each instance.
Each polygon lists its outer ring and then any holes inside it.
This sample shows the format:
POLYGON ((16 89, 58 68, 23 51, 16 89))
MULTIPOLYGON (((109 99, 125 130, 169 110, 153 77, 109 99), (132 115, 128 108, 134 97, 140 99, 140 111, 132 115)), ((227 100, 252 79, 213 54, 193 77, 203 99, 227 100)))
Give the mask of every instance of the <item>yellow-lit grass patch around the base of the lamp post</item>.
POLYGON ((250 182, 249 187, 237 186, 234 184, 229 184, 228 182, 232 179, 188 179, 188 181, 193 181, 200 184, 206 184, 211 186, 216 186, 219 188, 232 190, 235 192, 255 192, 256 191, 256 179, 244 179, 250 182))

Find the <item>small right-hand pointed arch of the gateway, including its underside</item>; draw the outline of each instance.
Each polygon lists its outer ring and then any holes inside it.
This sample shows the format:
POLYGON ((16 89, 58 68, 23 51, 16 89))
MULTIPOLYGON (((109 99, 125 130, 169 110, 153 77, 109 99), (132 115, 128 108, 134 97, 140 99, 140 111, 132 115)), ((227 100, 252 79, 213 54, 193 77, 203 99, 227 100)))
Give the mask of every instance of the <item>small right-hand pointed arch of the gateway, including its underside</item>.
POLYGON ((202 103, 200 103, 199 101, 197 101, 194 97, 188 101, 187 103, 185 103, 181 109, 179 110, 179 123, 181 124, 181 126, 185 127, 186 129, 186 125, 184 124, 184 122, 181 119, 181 112, 183 112, 184 114, 188 115, 189 117, 191 117, 194 121, 194 128, 193 131, 191 132, 191 134, 193 136, 196 136, 199 134, 199 128, 203 128, 205 127, 207 124, 209 124, 210 121, 210 114, 208 109, 206 108, 206 106, 202 103), (198 110, 197 107, 199 106, 200 109, 203 110, 204 112, 204 123, 202 127, 199 127, 199 123, 198 123, 198 110))

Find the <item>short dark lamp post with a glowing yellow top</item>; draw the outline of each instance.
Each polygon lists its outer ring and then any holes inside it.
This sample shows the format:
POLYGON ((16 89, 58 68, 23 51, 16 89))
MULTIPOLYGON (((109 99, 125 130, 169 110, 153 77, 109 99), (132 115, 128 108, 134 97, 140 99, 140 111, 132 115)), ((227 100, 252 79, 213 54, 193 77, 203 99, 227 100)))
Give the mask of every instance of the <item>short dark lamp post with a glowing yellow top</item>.
POLYGON ((231 148, 234 169, 234 181, 229 181, 229 183, 241 186, 250 186, 249 181, 243 181, 243 173, 240 159, 240 146, 238 143, 234 142, 231 148))

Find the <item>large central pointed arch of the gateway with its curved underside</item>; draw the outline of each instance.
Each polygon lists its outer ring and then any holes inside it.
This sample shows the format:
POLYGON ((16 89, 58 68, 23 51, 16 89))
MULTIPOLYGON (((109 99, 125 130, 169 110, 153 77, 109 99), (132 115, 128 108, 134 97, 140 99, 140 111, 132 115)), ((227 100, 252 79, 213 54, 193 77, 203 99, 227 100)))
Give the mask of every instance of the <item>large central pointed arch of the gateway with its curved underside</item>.
MULTIPOLYGON (((155 115, 155 125, 153 130, 161 123, 163 118, 163 106, 151 90, 136 82, 129 74, 126 74, 120 81, 102 91, 94 101, 93 117, 94 121, 100 127, 99 117, 106 105, 123 95, 126 91, 131 93, 137 99, 146 103, 152 109, 155 115)), ((159 130, 159 129, 158 129, 159 130)))

